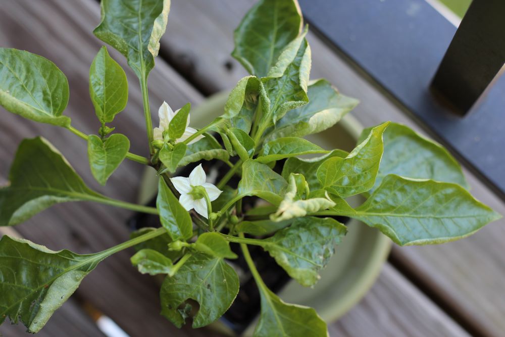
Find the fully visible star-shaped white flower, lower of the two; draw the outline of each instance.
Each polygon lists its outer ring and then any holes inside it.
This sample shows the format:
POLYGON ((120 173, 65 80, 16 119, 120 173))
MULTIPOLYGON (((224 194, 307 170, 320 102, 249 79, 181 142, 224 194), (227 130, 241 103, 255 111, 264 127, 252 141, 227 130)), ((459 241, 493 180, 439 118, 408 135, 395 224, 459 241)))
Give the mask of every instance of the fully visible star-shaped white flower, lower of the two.
POLYGON ((210 201, 214 201, 218 199, 222 190, 214 186, 209 182, 205 182, 207 179, 207 175, 203 168, 201 168, 201 164, 196 166, 193 171, 189 174, 189 177, 173 177, 170 178, 172 183, 174 184, 175 189, 179 191, 181 197, 179 198, 179 202, 181 205, 189 211, 194 208, 194 210, 200 214, 201 216, 207 218, 207 203, 204 197, 200 197, 198 192, 194 190, 195 186, 202 186, 205 188, 207 195, 209 196, 210 201))

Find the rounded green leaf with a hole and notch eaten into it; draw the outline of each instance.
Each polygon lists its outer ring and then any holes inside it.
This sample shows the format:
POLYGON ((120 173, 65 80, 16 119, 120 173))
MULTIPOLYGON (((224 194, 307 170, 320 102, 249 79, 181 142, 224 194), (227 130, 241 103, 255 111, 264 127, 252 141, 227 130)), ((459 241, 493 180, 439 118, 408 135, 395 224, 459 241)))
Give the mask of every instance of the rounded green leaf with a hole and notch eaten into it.
POLYGON ((160 292, 161 313, 181 327, 186 315, 179 307, 192 299, 199 304, 193 328, 208 325, 228 310, 238 294, 238 285, 237 273, 222 258, 194 254, 177 274, 165 278, 160 292))

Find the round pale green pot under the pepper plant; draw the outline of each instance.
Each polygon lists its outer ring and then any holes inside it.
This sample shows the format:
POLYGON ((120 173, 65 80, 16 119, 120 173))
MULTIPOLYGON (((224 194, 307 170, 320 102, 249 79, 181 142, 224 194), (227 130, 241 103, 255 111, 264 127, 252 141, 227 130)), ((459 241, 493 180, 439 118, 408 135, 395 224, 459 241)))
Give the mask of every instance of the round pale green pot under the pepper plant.
MULTIPOLYGON (((203 127, 220 116, 227 97, 228 92, 220 92, 191 110, 191 126, 203 127)), ((323 149, 350 151, 354 149, 362 130, 361 124, 347 114, 335 126, 307 138, 323 149)), ((146 171, 140 202, 154 197, 157 179, 153 173, 153 170, 146 171)), ((364 199, 353 197, 347 201, 356 207, 364 199)), ((287 303, 315 308, 328 323, 341 317, 365 296, 377 279, 391 246, 389 238, 360 221, 351 219, 346 225, 348 233, 320 273, 318 283, 314 287, 304 287, 291 280, 278 294, 287 303)), ((255 325, 256 322, 253 322, 244 335, 252 335, 255 325)), ((220 322, 213 327, 230 332, 220 322)))

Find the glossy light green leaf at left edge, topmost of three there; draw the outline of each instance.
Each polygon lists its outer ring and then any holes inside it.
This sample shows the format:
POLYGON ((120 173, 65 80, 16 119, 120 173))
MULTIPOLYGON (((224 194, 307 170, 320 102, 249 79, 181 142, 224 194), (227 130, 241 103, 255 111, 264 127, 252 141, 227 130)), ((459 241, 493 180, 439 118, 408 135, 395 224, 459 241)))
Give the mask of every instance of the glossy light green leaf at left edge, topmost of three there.
POLYGON ((70 126, 67 77, 51 61, 25 51, 0 48, 0 105, 35 122, 70 126))

